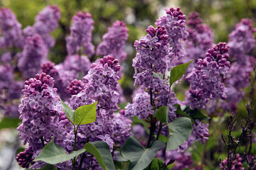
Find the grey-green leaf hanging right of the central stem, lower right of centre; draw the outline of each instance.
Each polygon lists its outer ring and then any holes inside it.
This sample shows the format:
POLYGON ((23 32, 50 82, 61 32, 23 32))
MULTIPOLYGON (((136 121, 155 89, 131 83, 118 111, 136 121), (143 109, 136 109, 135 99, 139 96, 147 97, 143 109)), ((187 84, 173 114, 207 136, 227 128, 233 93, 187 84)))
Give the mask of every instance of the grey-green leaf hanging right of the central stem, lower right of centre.
POLYGON ((192 132, 192 124, 190 118, 177 118, 167 124, 169 127, 169 137, 166 145, 166 152, 177 149, 179 145, 188 140, 192 132))

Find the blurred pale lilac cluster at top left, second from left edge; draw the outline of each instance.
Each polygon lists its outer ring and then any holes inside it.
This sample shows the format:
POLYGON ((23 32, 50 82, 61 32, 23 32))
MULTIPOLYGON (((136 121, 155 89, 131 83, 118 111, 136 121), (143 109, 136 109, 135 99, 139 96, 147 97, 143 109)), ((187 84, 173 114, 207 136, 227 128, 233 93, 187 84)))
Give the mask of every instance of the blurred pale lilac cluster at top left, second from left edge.
POLYGON ((58 21, 60 19, 60 9, 58 6, 47 6, 36 16, 36 22, 33 26, 27 26, 23 30, 25 38, 33 36, 35 34, 41 35, 46 47, 50 48, 55 45, 54 38, 50 35, 50 32, 58 27, 58 21))

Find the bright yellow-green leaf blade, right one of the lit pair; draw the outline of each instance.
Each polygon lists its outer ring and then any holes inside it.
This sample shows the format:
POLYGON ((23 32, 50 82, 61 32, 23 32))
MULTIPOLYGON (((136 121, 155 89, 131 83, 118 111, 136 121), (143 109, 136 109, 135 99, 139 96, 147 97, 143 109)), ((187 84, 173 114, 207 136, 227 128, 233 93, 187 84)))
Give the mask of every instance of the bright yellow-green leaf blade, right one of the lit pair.
POLYGON ((93 123, 96 120, 96 105, 92 103, 90 105, 80 106, 75 110, 75 124, 85 125, 88 123, 93 123))

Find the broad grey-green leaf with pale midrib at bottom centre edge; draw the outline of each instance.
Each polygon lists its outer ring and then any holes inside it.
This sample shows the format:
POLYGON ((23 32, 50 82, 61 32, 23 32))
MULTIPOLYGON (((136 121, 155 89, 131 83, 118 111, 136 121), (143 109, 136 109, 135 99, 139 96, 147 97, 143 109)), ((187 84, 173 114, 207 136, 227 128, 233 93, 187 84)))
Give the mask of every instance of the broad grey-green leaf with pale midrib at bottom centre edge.
POLYGON ((130 161, 128 170, 142 170, 150 164, 157 152, 165 147, 164 142, 154 141, 149 148, 143 147, 134 137, 129 137, 122 147, 122 156, 130 161))

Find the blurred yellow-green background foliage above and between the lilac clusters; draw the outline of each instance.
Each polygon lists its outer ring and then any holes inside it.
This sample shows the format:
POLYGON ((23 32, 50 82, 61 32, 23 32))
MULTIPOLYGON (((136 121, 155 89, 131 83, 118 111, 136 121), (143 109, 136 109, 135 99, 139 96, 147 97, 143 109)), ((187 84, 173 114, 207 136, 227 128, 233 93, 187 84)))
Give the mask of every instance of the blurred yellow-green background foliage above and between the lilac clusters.
MULTIPOLYGON (((78 11, 86 10, 92 14, 95 21, 92 43, 97 47, 102 41, 102 35, 107 33, 107 28, 116 20, 122 20, 129 28, 127 40, 127 61, 123 63, 124 77, 120 81, 124 95, 128 101, 134 90, 132 59, 136 55, 134 40, 146 35, 146 28, 154 26, 157 18, 165 15, 165 8, 181 7, 186 16, 196 11, 212 28, 215 43, 227 42, 228 34, 235 28, 242 18, 256 20, 255 0, 0 0, 0 7, 11 8, 23 28, 32 26, 36 14, 48 4, 58 5, 61 10, 60 27, 52 35, 56 40, 55 47, 50 49, 48 58, 58 64, 63 62, 67 52, 65 50, 65 37, 70 33, 71 18, 78 11)), ((255 25, 255 24, 254 24, 255 25)), ((255 51, 253 52, 255 54, 255 51)), ((255 55, 254 55, 255 56, 255 55)), ((97 58, 95 56, 94 60, 97 58)), ((241 103, 241 111, 245 111, 241 103)), ((18 148, 16 130, 5 129, 0 131, 0 169, 18 169, 14 155, 18 148), (11 165, 12 164, 12 165, 11 165)))

